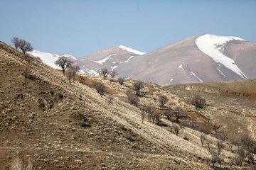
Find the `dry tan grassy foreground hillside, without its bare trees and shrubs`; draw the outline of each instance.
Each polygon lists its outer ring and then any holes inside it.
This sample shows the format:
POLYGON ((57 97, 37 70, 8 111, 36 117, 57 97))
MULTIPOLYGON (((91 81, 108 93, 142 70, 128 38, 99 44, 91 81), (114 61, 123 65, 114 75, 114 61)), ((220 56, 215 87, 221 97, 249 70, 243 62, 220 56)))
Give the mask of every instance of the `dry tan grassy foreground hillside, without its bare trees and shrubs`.
MULTIPOLYGON (((147 118, 142 123, 141 110, 132 106, 126 95, 133 80, 120 85, 115 78, 83 75, 85 84, 69 84, 62 72, 37 60, 28 63, 21 52, 3 42, 0 67, 0 169, 213 169, 206 162, 211 155, 206 144, 201 145, 202 133, 182 128, 176 135, 176 123, 166 119, 166 108, 159 107, 158 98, 165 95, 169 98, 166 107, 182 108, 187 114, 184 121, 205 124, 208 118, 214 123, 221 122, 220 118, 227 120, 223 116, 235 107, 221 101, 218 107, 206 96, 210 106, 198 110, 185 100, 190 94, 144 83, 139 103, 161 113, 161 126, 147 118), (107 86, 114 97, 112 103, 109 95, 101 96, 92 88, 94 81, 107 86)), ((255 101, 235 100, 244 102, 241 112, 247 109, 251 115, 255 113, 255 108, 251 109, 255 101)), ((250 117, 227 115, 240 124, 255 123, 250 117)), ((226 123, 223 130, 229 127, 224 120, 221 123, 226 123)), ((253 134, 254 128, 244 129, 253 134)), ((217 148, 214 135, 215 132, 206 135, 211 150, 217 148)), ((235 147, 229 147, 229 142, 224 142, 224 146, 224 163, 221 167, 215 164, 215 169, 241 169, 230 168, 229 157, 234 157, 235 147)))

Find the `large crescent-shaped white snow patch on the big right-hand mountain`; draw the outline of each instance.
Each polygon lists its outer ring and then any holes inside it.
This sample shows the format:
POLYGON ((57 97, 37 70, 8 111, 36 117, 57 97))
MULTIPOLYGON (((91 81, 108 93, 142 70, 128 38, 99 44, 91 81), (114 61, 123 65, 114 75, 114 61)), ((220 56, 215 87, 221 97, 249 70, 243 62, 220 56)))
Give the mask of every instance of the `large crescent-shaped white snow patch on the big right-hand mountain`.
POLYGON ((223 54, 225 45, 227 45, 227 43, 232 40, 243 41, 242 38, 238 37, 205 34, 196 38, 196 45, 199 50, 211 57, 215 62, 223 64, 225 67, 235 72, 243 79, 247 79, 245 74, 243 74, 237 64, 235 64, 235 61, 223 54))

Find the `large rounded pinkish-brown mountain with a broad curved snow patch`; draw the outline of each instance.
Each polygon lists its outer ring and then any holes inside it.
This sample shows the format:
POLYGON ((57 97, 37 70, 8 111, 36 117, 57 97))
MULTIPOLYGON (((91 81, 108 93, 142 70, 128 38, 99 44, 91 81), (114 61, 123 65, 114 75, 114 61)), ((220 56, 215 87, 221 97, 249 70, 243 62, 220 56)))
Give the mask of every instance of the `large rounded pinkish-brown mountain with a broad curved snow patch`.
POLYGON ((162 86, 256 78, 252 73, 256 69, 255 56, 254 42, 236 37, 195 35, 134 58, 118 67, 117 72, 123 77, 162 86))

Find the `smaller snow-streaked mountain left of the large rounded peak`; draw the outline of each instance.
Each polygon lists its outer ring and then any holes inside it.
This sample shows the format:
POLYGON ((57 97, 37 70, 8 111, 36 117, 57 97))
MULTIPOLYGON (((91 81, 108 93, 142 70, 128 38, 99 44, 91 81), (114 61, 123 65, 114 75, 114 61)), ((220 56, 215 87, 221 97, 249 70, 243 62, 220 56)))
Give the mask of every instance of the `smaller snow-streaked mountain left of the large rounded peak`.
POLYGON ((28 54, 31 54, 34 57, 40 57, 44 64, 55 69, 60 69, 60 67, 54 63, 59 57, 70 57, 74 62, 80 65, 81 72, 97 75, 99 69, 107 68, 114 70, 119 67, 120 64, 129 62, 132 58, 144 55, 145 53, 125 47, 124 45, 115 45, 82 58, 73 55, 57 55, 48 52, 40 52, 38 50, 33 50, 32 52, 28 52, 28 54))

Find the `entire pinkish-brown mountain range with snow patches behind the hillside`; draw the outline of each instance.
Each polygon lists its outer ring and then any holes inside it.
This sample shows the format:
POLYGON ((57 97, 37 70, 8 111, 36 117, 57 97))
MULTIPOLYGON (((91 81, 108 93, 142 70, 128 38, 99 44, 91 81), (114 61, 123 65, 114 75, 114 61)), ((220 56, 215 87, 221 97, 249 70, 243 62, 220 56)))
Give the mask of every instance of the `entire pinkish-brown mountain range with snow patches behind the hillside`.
POLYGON ((43 63, 58 68, 58 57, 73 58, 81 72, 115 69, 117 77, 150 81, 161 86, 256 78, 256 42, 238 37, 195 35, 144 53, 123 45, 107 47, 84 57, 33 51, 43 63))

